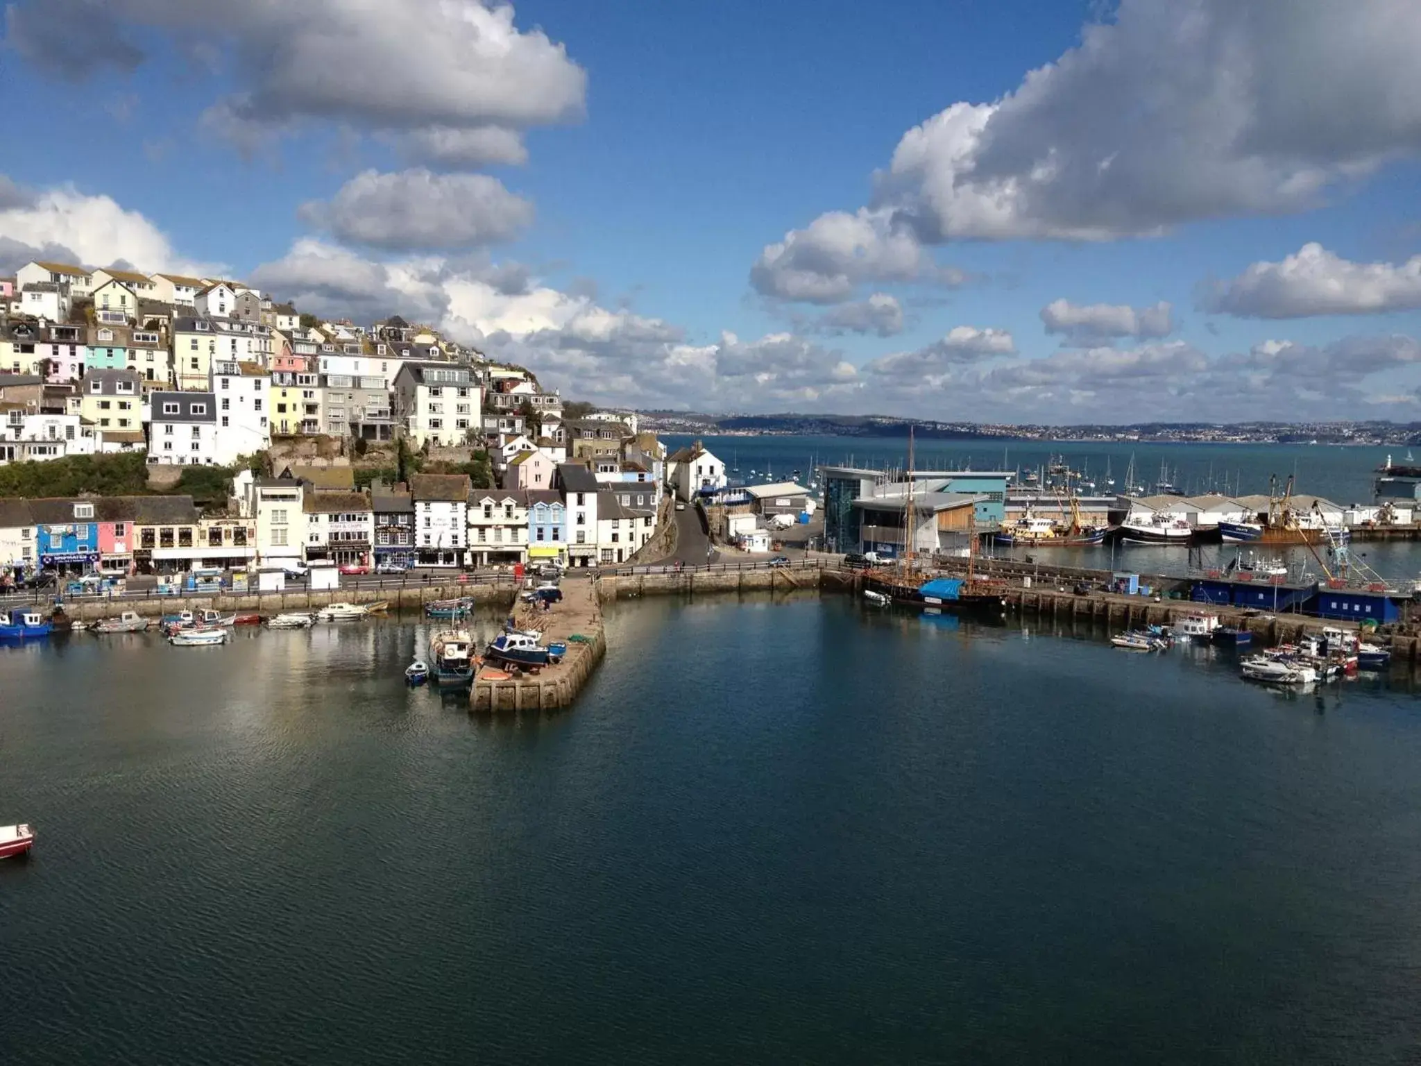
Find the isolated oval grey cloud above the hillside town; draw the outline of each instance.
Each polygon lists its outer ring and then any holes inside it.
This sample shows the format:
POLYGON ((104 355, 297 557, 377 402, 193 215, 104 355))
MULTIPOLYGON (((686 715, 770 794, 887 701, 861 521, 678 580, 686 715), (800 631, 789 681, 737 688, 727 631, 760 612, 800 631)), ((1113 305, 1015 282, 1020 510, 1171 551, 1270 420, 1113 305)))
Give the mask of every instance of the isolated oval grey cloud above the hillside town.
POLYGON ((365 171, 330 203, 306 203, 300 215, 352 244, 459 249, 509 240, 533 222, 533 205, 485 173, 365 171))

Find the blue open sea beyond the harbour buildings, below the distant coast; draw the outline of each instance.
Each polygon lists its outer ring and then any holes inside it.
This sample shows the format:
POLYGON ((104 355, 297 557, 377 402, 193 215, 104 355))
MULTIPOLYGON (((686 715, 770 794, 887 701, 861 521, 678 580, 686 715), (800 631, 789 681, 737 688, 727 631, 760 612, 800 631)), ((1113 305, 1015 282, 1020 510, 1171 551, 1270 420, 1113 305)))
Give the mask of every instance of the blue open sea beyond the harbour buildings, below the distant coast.
MULTIPOLYGON (((908 466, 907 438, 857 436, 684 436, 662 438, 675 451, 702 441, 716 458, 737 473, 732 479, 746 483, 790 480, 799 472, 801 485, 810 486, 814 470, 824 465, 861 466, 865 469, 904 470, 908 466)), ((1084 480, 1096 483, 1096 495, 1124 492, 1127 475, 1154 492, 1165 480, 1188 495, 1222 492, 1249 495, 1277 492, 1295 478, 1296 492, 1322 496, 1343 507, 1373 502, 1373 480, 1378 466, 1408 462, 1405 446, 1350 445, 1272 445, 1272 443, 1157 443, 1096 441, 934 441, 914 445, 914 469, 918 470, 1044 470, 1052 462, 1080 470, 1084 480), (1114 480, 1114 488, 1108 485, 1114 480)), ((1421 465, 1421 459, 1414 461, 1421 465)), ((1090 495, 1088 490, 1083 490, 1090 495)), ((1238 546, 1158 547, 1151 544, 1098 544, 1087 547, 1043 549, 1037 546, 989 547, 988 554, 1017 561, 1030 557, 1043 566, 1076 566, 1094 570, 1135 571, 1184 576, 1191 570, 1222 569, 1239 554, 1263 556, 1262 550, 1238 546)), ((1293 577, 1324 577, 1336 560, 1326 550, 1306 547, 1273 549, 1266 553, 1292 567, 1293 577)), ((1376 576, 1397 587, 1411 588, 1421 576, 1421 542, 1358 543, 1351 550, 1354 570, 1376 576)))

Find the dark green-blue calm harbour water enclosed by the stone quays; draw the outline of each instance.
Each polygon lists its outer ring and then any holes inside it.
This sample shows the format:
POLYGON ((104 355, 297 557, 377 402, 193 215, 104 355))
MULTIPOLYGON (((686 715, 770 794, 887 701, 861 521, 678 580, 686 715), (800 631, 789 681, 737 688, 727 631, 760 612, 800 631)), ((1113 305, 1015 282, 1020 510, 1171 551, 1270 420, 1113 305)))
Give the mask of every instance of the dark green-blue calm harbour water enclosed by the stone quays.
POLYGON ((512 721, 406 691, 395 621, 0 650, 4 1060, 1414 1060, 1407 678, 847 597, 607 621, 512 721))

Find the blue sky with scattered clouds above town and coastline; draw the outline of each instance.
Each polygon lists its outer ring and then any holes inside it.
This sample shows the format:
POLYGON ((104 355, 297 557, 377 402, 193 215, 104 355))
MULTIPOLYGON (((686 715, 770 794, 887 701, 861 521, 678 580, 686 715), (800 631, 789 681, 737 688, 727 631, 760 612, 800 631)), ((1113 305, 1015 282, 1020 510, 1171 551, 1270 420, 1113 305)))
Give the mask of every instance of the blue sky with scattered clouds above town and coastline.
POLYGON ((1415 0, 0 6, 0 273, 641 409, 1421 421, 1415 0))

